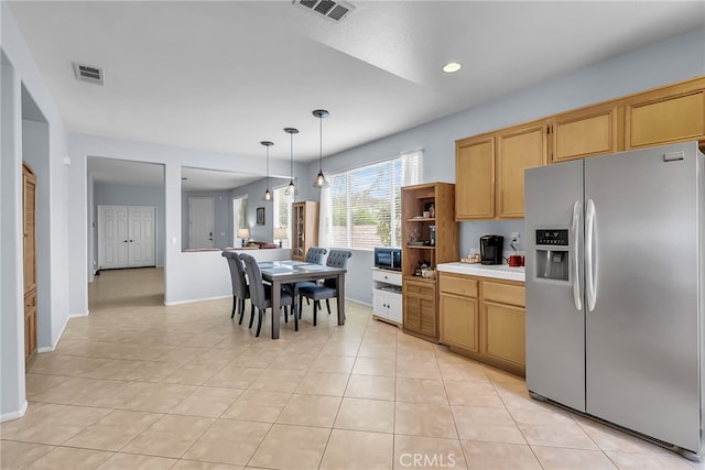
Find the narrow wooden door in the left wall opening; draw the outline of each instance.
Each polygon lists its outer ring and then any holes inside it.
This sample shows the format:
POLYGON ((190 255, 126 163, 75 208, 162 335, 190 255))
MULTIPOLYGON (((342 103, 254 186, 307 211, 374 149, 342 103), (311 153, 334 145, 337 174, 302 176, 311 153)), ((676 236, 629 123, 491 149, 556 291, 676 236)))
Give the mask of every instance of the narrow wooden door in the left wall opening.
POLYGON ((24 363, 36 353, 36 177, 22 165, 23 259, 24 259, 24 363))

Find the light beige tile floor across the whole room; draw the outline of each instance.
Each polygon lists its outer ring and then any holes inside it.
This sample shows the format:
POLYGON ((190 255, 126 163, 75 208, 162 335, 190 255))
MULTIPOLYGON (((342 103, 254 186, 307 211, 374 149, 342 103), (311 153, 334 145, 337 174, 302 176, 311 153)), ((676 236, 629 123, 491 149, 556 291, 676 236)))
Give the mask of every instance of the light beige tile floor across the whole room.
POLYGON ((26 415, 0 425, 2 469, 704 468, 368 307, 343 327, 307 307, 272 340, 229 299, 164 307, 162 286, 154 269, 96 277, 90 316, 26 374, 26 415))

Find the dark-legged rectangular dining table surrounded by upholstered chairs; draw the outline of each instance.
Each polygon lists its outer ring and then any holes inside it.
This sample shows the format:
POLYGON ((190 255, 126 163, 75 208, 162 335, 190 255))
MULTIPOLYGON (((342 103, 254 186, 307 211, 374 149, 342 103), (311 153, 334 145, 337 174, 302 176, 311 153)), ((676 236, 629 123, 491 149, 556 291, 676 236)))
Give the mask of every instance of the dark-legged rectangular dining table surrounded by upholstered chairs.
MULTIPOLYGON (((258 263, 258 265, 262 273, 262 280, 272 284, 272 313, 278 313, 281 307, 282 286, 286 284, 295 285, 297 282, 303 281, 335 278, 337 285, 338 325, 345 325, 345 274, 347 270, 303 261, 268 261, 258 263)), ((294 295, 296 295, 295 292, 294 295)), ((295 309, 294 315, 296 315, 295 309)), ((279 338, 280 323, 280 315, 273 314, 272 339, 279 338)))

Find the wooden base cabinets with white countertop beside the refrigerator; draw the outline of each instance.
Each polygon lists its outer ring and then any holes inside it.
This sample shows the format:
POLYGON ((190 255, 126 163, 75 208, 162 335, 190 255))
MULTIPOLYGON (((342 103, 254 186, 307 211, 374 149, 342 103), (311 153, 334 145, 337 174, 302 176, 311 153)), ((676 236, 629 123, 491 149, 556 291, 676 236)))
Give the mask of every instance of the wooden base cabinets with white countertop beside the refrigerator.
POLYGON ((524 269, 443 263, 437 271, 441 343, 523 376, 524 269))

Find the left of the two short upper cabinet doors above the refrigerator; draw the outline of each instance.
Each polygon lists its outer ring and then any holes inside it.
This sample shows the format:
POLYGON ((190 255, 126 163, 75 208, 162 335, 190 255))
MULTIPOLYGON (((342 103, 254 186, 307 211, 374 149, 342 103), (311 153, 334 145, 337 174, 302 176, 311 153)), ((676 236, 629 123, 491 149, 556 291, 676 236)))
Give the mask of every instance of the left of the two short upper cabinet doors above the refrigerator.
POLYGON ((615 153, 622 149, 618 107, 593 107, 552 119, 552 162, 615 153))

